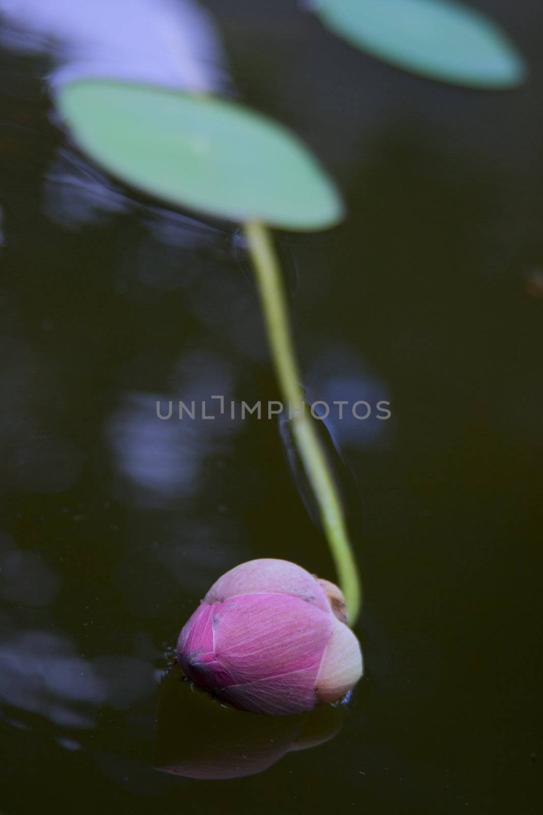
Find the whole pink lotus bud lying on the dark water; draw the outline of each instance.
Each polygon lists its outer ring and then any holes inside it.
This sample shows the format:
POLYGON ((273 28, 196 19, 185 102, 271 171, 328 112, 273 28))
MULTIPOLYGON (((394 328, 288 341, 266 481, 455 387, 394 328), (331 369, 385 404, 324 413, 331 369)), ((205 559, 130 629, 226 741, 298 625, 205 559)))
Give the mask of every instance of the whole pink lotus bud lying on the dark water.
POLYGON ((339 588, 271 558, 242 563, 212 585, 182 628, 177 659, 210 693, 274 716, 335 702, 362 674, 339 588))

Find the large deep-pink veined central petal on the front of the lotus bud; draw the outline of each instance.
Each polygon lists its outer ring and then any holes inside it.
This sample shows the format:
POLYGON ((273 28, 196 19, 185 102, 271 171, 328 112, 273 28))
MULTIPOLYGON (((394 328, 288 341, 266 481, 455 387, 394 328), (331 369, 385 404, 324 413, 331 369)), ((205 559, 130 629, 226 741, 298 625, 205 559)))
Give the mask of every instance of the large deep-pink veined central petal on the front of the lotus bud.
POLYGON ((330 607, 322 611, 289 595, 247 594, 211 608, 215 657, 236 684, 311 669, 313 689, 331 637, 330 607))

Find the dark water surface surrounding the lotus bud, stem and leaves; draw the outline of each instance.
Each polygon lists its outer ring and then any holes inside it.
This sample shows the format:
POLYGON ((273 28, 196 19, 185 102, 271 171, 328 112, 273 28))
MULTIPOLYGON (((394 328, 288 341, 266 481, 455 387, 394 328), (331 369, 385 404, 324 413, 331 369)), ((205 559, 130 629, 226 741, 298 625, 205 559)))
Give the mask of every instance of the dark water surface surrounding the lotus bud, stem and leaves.
POLYGON ((252 557, 334 576, 276 421, 155 416, 278 398, 243 243, 85 161, 50 55, 4 36, 2 813, 539 811, 543 13, 474 5, 527 56, 521 90, 411 77, 286 0, 206 3, 236 92, 348 204, 278 236, 308 394, 392 406, 330 428, 366 676, 303 726, 232 725, 231 764, 271 766, 227 781, 153 769, 159 696, 157 763, 217 726, 188 685, 159 692, 182 623, 252 557))

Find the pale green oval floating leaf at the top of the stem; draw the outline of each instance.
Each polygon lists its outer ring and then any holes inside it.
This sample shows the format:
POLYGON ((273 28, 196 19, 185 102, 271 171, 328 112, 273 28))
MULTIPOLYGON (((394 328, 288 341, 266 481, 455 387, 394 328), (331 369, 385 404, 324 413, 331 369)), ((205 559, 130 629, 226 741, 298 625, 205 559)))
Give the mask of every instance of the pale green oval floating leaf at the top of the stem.
POLYGON ((85 80, 64 86, 58 105, 94 161, 173 205, 295 230, 342 216, 334 184, 304 144, 238 104, 85 80))

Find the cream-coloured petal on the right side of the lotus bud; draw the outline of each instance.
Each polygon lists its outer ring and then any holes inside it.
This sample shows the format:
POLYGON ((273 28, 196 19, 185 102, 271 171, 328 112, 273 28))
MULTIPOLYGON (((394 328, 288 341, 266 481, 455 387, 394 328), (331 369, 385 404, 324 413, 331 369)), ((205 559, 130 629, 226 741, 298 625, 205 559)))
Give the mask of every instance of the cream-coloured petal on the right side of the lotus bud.
POLYGON ((345 623, 334 617, 332 636, 315 681, 317 702, 336 702, 357 684, 362 676, 360 643, 345 623))

